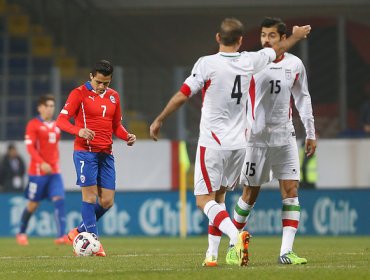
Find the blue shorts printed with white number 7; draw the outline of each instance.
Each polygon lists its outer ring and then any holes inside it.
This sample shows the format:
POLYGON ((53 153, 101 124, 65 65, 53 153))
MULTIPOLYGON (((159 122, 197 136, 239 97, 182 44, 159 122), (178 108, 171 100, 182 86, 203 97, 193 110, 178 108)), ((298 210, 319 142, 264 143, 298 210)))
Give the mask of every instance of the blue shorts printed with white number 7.
POLYGON ((107 153, 74 151, 77 182, 80 187, 98 186, 105 189, 116 189, 116 171, 114 157, 107 153))

